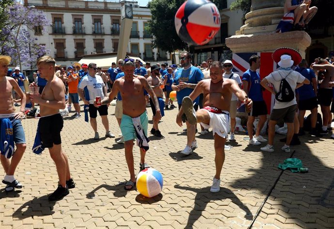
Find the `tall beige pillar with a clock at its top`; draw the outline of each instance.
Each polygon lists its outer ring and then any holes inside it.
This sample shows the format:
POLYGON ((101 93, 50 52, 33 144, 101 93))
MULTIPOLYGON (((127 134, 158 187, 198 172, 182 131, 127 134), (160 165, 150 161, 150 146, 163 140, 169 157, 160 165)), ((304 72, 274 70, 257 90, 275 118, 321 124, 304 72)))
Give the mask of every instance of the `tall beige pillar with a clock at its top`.
POLYGON ((130 33, 133 21, 133 9, 130 5, 121 6, 121 30, 117 50, 117 61, 124 59, 130 40, 130 33))

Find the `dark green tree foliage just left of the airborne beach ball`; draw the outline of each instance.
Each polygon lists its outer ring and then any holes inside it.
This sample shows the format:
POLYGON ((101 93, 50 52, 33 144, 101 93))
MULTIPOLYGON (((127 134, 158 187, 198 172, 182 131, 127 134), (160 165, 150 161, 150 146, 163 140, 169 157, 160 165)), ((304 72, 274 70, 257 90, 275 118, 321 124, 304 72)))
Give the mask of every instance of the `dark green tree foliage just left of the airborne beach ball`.
POLYGON ((154 35, 153 47, 173 52, 176 49, 187 49, 175 30, 174 17, 184 0, 152 0, 148 4, 152 19, 148 31, 154 35))

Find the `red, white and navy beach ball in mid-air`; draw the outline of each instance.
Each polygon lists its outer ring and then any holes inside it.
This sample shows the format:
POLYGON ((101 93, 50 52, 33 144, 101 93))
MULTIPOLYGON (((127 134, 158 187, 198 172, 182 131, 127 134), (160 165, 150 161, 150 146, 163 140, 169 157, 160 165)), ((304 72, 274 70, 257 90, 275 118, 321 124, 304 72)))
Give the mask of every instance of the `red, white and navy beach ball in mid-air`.
POLYGON ((179 37, 190 45, 204 45, 220 29, 217 6, 209 0, 187 0, 175 15, 175 29, 179 37))

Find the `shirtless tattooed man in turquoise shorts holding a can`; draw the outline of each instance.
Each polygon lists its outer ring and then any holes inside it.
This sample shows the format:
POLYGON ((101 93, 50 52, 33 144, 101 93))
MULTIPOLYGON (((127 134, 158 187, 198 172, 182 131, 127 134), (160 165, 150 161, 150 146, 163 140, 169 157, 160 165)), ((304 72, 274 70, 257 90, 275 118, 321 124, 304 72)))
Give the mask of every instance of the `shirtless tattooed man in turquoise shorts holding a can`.
POLYGON ((145 163, 145 154, 148 147, 146 114, 146 99, 144 89, 149 93, 156 108, 154 121, 161 119, 159 102, 150 84, 143 76, 134 75, 135 64, 133 59, 123 61, 124 77, 116 80, 108 97, 102 99, 102 105, 110 103, 118 92, 121 92, 123 103, 123 116, 121 119, 121 132, 124 138, 125 159, 130 172, 130 180, 126 182, 125 190, 132 190, 136 185, 136 176, 133 157, 133 139, 137 137, 137 145, 140 147, 140 171, 148 168, 145 163))

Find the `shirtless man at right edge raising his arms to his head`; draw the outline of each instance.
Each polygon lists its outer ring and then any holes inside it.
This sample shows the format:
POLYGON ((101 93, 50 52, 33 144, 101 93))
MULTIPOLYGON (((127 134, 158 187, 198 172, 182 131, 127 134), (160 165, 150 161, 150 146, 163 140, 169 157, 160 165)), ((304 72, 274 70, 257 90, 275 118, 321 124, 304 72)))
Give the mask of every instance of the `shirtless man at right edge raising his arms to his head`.
POLYGON ((322 113, 322 131, 320 134, 327 134, 327 125, 330 123, 331 117, 331 102, 333 98, 333 86, 334 86, 334 65, 331 65, 326 59, 320 59, 317 65, 313 65, 312 68, 316 70, 324 69, 326 70, 324 74, 324 79, 321 82, 318 90, 319 98, 318 102, 320 104, 322 113))

